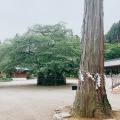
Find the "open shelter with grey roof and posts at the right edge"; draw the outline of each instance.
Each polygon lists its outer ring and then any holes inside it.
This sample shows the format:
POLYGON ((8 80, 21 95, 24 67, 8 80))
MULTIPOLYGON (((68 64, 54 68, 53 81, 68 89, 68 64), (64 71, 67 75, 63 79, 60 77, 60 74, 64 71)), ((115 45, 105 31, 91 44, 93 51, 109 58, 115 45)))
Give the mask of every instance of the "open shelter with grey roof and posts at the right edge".
POLYGON ((120 59, 106 60, 104 68, 112 79, 112 89, 120 85, 120 59))

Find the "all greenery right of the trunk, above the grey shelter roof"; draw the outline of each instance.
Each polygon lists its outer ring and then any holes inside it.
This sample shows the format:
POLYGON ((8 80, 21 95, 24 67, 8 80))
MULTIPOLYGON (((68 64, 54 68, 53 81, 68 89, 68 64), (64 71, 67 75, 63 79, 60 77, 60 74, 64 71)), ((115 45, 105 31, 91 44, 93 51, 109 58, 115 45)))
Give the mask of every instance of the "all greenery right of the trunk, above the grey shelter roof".
POLYGON ((105 60, 120 58, 120 21, 105 35, 105 60))

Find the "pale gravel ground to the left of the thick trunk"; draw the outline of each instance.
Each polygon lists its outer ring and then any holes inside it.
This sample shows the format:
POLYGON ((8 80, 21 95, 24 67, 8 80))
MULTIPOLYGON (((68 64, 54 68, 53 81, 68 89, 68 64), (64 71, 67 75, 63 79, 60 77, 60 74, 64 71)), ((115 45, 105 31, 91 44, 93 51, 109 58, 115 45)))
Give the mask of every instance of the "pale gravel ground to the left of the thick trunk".
POLYGON ((54 110, 72 105, 77 80, 62 86, 37 86, 36 80, 0 82, 0 120, 52 120, 54 110))

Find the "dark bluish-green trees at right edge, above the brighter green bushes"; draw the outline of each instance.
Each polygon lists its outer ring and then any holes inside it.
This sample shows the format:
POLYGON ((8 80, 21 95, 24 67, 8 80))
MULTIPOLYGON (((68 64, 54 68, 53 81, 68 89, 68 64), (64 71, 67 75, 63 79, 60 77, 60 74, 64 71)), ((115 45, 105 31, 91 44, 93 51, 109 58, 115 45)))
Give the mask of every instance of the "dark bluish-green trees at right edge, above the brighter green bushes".
POLYGON ((120 21, 112 25, 108 33, 105 35, 105 42, 120 43, 120 21))

